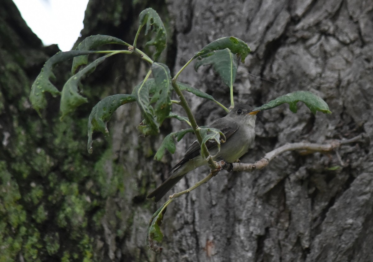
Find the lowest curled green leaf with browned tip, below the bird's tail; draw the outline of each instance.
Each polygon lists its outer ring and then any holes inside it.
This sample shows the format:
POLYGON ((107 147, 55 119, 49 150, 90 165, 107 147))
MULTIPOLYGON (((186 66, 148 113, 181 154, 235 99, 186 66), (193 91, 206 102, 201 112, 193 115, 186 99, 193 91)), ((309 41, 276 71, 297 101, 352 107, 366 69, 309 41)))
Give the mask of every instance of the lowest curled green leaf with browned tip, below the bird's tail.
POLYGON ((164 203, 160 208, 158 208, 156 213, 153 214, 147 230, 148 246, 156 252, 162 251, 162 247, 158 247, 154 242, 156 241, 161 243, 163 240, 163 233, 160 230, 160 226, 162 225, 163 215, 164 213, 166 213, 166 208, 163 208, 165 204, 166 203, 164 203))

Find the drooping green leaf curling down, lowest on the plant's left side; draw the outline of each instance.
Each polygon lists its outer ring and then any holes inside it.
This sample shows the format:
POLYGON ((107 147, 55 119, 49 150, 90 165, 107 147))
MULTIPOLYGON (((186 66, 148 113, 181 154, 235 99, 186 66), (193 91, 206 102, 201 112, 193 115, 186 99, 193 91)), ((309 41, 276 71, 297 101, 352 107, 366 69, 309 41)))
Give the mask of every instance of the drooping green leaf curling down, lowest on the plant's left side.
POLYGON ((115 110, 126 103, 134 102, 134 95, 113 95, 107 96, 98 102, 91 111, 88 119, 88 144, 87 149, 92 153, 92 134, 95 130, 103 134, 109 134, 106 123, 110 120, 115 110))

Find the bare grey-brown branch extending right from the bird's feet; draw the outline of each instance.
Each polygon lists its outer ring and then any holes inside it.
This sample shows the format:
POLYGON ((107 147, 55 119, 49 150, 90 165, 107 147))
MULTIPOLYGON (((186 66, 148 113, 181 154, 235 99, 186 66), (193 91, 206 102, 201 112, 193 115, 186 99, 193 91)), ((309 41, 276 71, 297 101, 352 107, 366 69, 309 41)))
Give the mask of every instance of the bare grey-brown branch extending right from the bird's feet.
POLYGON ((344 140, 332 140, 328 144, 315 144, 315 143, 291 143, 285 144, 279 148, 276 148, 267 154, 257 162, 253 164, 245 164, 245 163, 231 163, 227 164, 223 167, 223 169, 229 171, 247 171, 252 172, 255 169, 263 169, 264 167, 268 166, 269 162, 271 162, 276 156, 282 154, 286 151, 294 151, 300 150, 301 153, 314 153, 314 152, 329 152, 335 148, 339 148, 343 144, 354 143, 358 142, 363 138, 363 135, 358 135, 351 139, 344 139, 344 140))

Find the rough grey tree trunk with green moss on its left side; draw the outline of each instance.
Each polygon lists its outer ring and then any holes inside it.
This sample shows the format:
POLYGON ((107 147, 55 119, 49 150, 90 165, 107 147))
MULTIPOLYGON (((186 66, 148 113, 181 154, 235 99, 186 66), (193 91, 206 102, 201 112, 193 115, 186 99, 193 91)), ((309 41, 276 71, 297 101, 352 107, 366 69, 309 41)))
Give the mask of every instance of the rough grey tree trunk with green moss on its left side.
MULTIPOLYGON (((253 173, 219 173, 167 208, 163 253, 155 255, 145 246, 145 235, 160 204, 146 195, 194 138, 181 141, 163 163, 153 162, 162 140, 139 137, 141 115, 135 105, 125 105, 110 122, 110 138, 96 141, 92 156, 86 153, 90 108, 106 95, 130 93, 144 77, 146 65, 128 56, 110 58, 95 71, 84 88, 89 105, 66 122, 58 121, 58 99, 52 98, 40 120, 26 96, 54 50, 41 47, 6 0, 7 12, 0 9, 1 258, 373 261, 372 1, 150 2, 169 29, 163 59, 171 71, 214 39, 232 35, 253 49, 239 66, 236 102, 259 106, 310 90, 329 104, 331 115, 312 115, 305 106, 297 114, 286 106, 258 114, 256 146, 241 162, 252 163, 288 142, 323 143, 357 134, 367 139, 328 154, 286 153, 253 173)), ((131 42, 138 14, 149 6, 146 1, 103 5, 91 0, 82 37, 101 33, 131 42)), ((62 78, 69 71, 65 67, 62 78)), ((198 73, 187 68, 179 80, 229 105, 229 90, 211 68, 198 73)), ((188 99, 200 125, 224 114, 213 103, 188 99)), ((181 127, 170 121, 162 134, 181 127)), ((207 171, 189 173, 173 192, 193 185, 207 171)))

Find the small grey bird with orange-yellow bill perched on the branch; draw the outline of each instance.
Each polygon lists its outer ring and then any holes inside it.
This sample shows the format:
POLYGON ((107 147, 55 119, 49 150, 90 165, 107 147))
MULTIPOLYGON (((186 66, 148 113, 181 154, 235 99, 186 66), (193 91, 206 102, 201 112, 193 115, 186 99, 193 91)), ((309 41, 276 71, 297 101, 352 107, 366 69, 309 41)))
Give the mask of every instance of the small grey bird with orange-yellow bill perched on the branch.
MULTIPOLYGON (((228 115, 210 125, 222 131, 226 138, 225 143, 220 146, 220 151, 216 141, 210 140, 206 143, 214 160, 233 163, 251 148, 255 138, 255 119, 258 112, 252 111, 251 106, 248 105, 236 105, 228 115)), ((155 202, 158 202, 186 173, 207 164, 200 150, 200 144, 197 140, 194 141, 186 150, 184 158, 171 169, 170 172, 173 174, 151 192, 148 198, 155 197, 155 202)))

